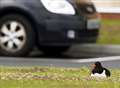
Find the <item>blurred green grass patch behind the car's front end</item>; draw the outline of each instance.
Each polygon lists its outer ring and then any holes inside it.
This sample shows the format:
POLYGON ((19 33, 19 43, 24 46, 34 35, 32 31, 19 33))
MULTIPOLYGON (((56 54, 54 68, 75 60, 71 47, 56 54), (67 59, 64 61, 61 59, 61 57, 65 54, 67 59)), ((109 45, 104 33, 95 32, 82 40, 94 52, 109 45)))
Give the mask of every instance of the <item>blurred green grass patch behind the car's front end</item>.
POLYGON ((120 20, 102 20, 98 44, 120 44, 120 20))

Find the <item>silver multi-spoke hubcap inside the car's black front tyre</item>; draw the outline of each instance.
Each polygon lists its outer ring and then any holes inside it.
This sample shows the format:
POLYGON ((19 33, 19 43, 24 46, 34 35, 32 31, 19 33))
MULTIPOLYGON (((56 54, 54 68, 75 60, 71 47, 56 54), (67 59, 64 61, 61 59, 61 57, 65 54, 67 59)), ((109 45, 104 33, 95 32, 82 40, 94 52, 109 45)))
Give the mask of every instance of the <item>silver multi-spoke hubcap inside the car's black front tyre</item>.
POLYGON ((10 21, 0 28, 0 46, 9 52, 20 50, 26 42, 26 32, 23 24, 10 21))

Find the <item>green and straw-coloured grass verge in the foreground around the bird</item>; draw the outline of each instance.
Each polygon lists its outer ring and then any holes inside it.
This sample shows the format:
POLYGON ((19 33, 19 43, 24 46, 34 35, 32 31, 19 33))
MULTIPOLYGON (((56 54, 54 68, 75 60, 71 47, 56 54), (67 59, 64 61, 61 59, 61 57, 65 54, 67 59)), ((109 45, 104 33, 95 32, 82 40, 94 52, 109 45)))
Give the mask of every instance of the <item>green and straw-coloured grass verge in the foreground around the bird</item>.
POLYGON ((107 79, 89 77, 88 67, 0 67, 0 88, 120 88, 120 70, 107 79))

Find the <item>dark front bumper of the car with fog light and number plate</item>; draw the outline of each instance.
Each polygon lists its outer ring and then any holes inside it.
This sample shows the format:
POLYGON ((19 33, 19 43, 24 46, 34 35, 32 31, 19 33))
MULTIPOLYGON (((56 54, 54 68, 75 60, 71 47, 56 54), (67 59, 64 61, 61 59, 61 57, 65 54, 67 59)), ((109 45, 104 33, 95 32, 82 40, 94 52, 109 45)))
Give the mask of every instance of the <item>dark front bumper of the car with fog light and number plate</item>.
POLYGON ((44 30, 39 32, 41 45, 71 45, 76 43, 93 43, 99 34, 98 18, 45 20, 44 30), (89 28, 88 28, 89 27, 89 28))

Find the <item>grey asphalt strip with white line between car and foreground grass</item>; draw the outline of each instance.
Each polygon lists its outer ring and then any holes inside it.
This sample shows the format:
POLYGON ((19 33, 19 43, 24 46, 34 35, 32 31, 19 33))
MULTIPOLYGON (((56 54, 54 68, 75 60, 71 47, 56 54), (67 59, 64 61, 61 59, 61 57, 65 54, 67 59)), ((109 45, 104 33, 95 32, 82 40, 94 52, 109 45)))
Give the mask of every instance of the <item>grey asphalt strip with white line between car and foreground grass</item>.
POLYGON ((95 61, 101 61, 105 67, 120 68, 120 56, 84 58, 63 56, 30 56, 26 58, 0 57, 0 66, 53 66, 79 68, 90 66, 95 61))

